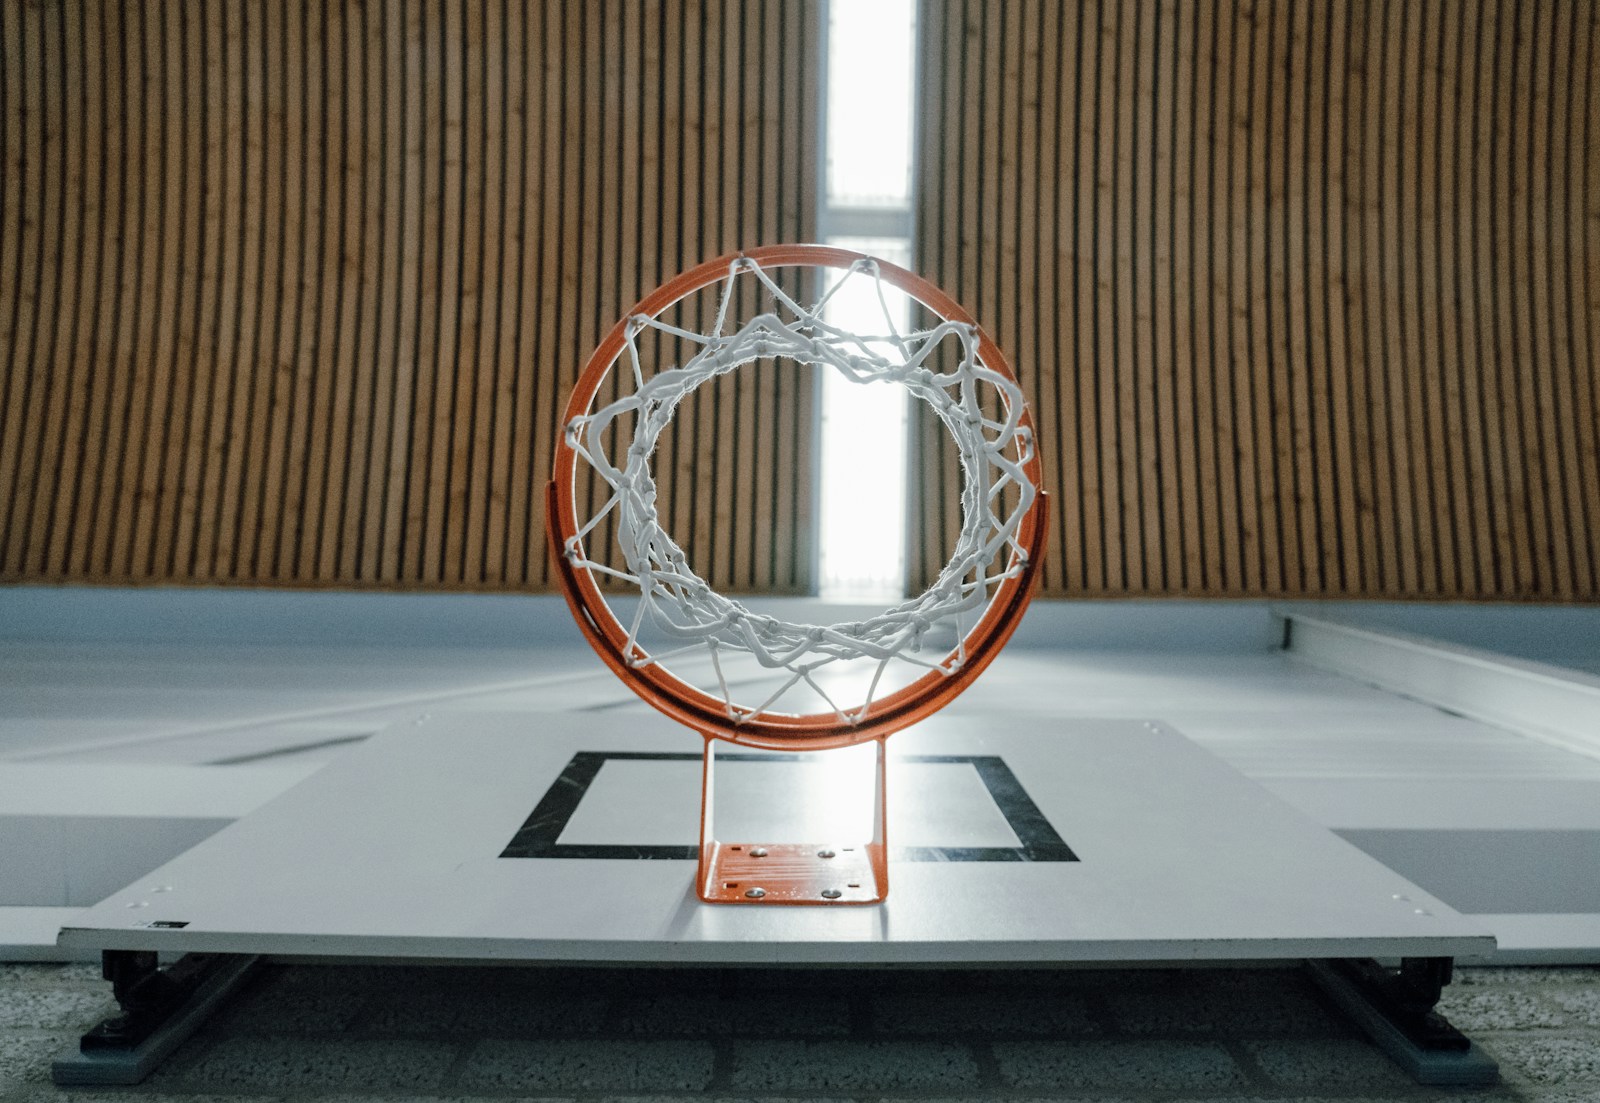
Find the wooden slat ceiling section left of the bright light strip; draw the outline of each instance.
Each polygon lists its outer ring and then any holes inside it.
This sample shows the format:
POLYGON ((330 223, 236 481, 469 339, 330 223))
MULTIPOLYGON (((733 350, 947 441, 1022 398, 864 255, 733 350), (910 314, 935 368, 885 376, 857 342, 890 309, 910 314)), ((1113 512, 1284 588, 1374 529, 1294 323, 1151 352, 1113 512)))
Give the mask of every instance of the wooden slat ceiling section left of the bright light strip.
MULTIPOLYGON (((600 333, 813 234, 818 26, 0 3, 0 581, 544 588, 552 431, 600 333)), ((741 373, 680 415, 662 509, 718 588, 810 584, 810 394, 741 373), (710 544, 734 530, 763 536, 710 544)))

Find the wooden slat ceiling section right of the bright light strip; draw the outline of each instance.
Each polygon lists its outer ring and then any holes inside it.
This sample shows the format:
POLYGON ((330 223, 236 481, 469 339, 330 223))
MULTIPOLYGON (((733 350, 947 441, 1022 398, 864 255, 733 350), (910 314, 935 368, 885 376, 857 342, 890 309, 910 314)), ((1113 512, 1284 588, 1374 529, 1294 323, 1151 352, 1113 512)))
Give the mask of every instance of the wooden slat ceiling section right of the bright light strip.
POLYGON ((922 13, 920 267, 1035 403, 1046 592, 1600 600, 1592 0, 922 13))

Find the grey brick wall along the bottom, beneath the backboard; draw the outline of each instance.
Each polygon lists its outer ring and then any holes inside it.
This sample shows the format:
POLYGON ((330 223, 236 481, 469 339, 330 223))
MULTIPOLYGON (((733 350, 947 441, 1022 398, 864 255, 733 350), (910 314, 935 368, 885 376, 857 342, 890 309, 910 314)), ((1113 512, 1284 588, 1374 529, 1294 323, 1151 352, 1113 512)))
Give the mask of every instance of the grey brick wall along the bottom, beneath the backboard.
POLYGON ((88 965, 0 965, 0 1100, 1600 1100, 1600 969, 1462 970, 1491 1090, 1419 1089, 1298 970, 272 965, 146 1084, 62 1090, 88 965))

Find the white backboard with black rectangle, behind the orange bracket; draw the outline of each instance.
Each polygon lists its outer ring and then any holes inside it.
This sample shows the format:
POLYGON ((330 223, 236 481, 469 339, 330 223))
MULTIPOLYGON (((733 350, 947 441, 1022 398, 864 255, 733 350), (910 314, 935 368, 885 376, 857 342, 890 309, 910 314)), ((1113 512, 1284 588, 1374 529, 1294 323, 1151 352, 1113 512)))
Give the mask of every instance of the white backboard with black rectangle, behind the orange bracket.
MULTIPOLYGON (((686 856, 699 749, 698 736, 638 712, 403 724, 82 912, 61 943, 952 965, 1493 948, 1480 924, 1168 725, 960 708, 890 740, 896 860, 885 904, 702 904, 686 856), (578 756, 590 770, 581 784, 578 756), (1008 794, 1005 778, 1026 796, 1008 794), (555 856, 502 856, 534 836, 554 839, 555 856)), ((787 828, 835 842, 862 813, 851 789, 861 776, 835 759, 718 765, 718 834, 787 828)))

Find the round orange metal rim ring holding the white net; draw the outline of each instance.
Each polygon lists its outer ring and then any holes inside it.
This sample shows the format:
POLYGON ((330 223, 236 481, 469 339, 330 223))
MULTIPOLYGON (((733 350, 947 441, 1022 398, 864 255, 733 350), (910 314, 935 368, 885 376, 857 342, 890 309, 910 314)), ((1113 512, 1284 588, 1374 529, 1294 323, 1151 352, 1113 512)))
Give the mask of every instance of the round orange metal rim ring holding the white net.
MULTIPOLYGON (((578 378, 578 384, 568 399, 566 411, 562 416, 562 424, 566 426, 573 418, 589 411, 606 373, 627 346, 630 317, 638 314, 654 317, 685 296, 728 279, 731 266, 739 258, 749 258, 763 269, 790 266, 848 269, 858 261, 875 259, 862 253, 827 245, 770 245, 722 256, 683 272, 645 296, 600 341, 582 375, 578 378)), ((902 290, 942 319, 973 325, 978 331, 978 352, 982 362, 1011 379, 1016 378, 1000 347, 944 291, 899 266, 886 261, 875 263, 880 277, 886 283, 902 290)), ((1024 408, 1019 416, 1021 423, 1032 432, 1034 426, 1029 411, 1024 408)), ((1035 442, 1037 439, 1037 434, 1034 434, 1035 442)), ((606 605, 595 576, 586 568, 574 567, 566 559, 566 541, 581 527, 574 498, 576 464, 578 453, 568 445, 565 434, 560 434, 555 447, 552 479, 546 491, 546 531, 549 533, 550 554, 555 560, 562 591, 566 596, 573 618, 595 653, 600 655, 606 666, 629 688, 666 716, 699 732, 707 740, 726 740, 742 746, 766 749, 821 751, 866 743, 867 740, 883 740, 938 712, 971 685, 973 679, 1005 647, 1021 621, 1029 600, 1032 600, 1038 570, 1043 564, 1045 535, 1048 531, 1048 496, 1040 490, 1034 499, 1034 506, 1018 528, 1018 544, 1026 551, 1027 562, 1018 575, 1000 583, 982 618, 968 632, 966 658, 960 669, 954 672, 930 671, 894 693, 874 701, 854 724, 840 720, 834 712, 808 716, 763 714, 755 719, 734 720, 728 716, 723 701, 683 682, 659 663, 635 666, 634 661, 646 658, 645 653, 637 645, 629 644, 629 631, 606 605)), ((1024 469, 1035 487, 1043 485, 1043 467, 1037 447, 1024 464, 1024 469)), ((950 658, 954 658, 954 653, 950 658)))

